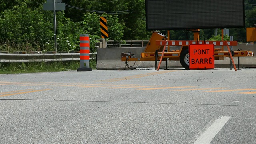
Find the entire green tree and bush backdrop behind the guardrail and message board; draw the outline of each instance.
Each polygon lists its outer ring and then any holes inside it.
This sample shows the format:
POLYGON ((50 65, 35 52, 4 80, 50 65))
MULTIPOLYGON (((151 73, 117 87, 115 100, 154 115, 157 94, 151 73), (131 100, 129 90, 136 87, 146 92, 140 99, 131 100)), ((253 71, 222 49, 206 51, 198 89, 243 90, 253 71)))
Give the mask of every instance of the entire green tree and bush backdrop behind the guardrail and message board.
MULTIPOLYGON (((79 50, 79 35, 89 34, 90 50, 94 52, 94 44, 100 38, 100 16, 107 17, 109 40, 148 40, 151 36, 146 31, 144 0, 62 2, 83 10, 66 7, 65 11, 56 12, 58 51, 79 50)), ((0 51, 54 51, 53 12, 44 11, 43 3, 46 0, 0 0, 0 51)), ((256 24, 256 0, 245 0, 245 10, 246 27, 252 27, 256 24)), ((214 32, 215 29, 200 30, 200 40, 218 39, 214 32)), ((184 30, 171 30, 170 34, 172 40, 193 39, 193 34, 184 30)), ((230 35, 238 42, 246 42, 246 28, 232 28, 230 35)))

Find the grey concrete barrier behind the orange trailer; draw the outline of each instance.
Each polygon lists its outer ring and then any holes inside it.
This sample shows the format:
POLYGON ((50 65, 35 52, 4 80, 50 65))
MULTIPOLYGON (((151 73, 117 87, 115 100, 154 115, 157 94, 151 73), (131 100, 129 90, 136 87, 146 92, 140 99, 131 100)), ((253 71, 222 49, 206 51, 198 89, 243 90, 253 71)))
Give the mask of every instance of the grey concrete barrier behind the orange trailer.
MULTIPOLYGON (((238 44, 233 46, 233 50, 249 50, 256 51, 256 44, 238 44)), ((121 61, 122 52, 132 52, 135 57, 140 57, 140 53, 143 52, 145 47, 129 47, 129 48, 98 48, 97 52, 97 70, 118 70, 125 68, 125 63, 121 61)), ((177 49, 177 47, 171 47, 170 49, 177 49)), ((224 46, 224 50, 227 50, 224 46)), ((234 59, 237 65, 237 58, 234 59)), ((134 62, 128 62, 129 65, 133 65, 134 62)), ((150 61, 138 61, 135 63, 134 68, 149 68, 155 67, 155 62, 150 61)), ((254 57, 240 57, 240 68, 256 67, 256 56, 254 57)), ((165 68, 165 61, 162 62, 160 68, 165 68)), ((168 68, 183 68, 180 61, 169 61, 168 68)), ((230 68, 230 58, 224 58, 224 60, 215 60, 215 68, 230 68)))

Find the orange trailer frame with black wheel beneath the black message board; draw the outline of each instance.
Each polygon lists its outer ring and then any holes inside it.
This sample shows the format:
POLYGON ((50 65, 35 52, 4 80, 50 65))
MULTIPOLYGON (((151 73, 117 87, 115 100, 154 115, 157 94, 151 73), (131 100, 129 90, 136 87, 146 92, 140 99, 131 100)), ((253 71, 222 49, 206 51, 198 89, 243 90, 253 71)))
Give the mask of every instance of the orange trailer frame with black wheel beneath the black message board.
MULTIPOLYGON (((199 41, 199 30, 193 31, 194 40, 190 41, 170 41, 167 40, 168 38, 164 34, 154 31, 144 52, 140 54, 140 58, 135 58, 132 53, 122 53, 121 61, 155 61, 157 63, 163 54, 162 58, 164 58, 164 60, 180 60, 182 66, 189 70, 188 46, 190 44, 214 44, 215 46, 222 46, 222 48, 214 48, 215 60, 224 60, 224 57, 230 57, 229 52, 224 51, 223 46, 236 46, 238 44, 237 41, 199 41), (168 48, 165 52, 162 52, 165 45, 168 46, 168 48), (181 46, 181 48, 177 50, 170 50, 170 46, 181 46)), ((237 50, 232 52, 232 57, 239 58, 244 56, 254 56, 254 52, 247 50, 237 50)))

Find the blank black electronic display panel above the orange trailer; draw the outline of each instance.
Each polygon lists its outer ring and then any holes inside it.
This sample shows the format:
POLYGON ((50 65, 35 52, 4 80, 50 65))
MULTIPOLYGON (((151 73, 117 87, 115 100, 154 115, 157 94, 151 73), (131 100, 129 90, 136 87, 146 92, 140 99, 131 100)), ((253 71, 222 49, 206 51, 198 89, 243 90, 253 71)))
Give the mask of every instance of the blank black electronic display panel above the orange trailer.
POLYGON ((145 0, 147 30, 244 27, 244 0, 145 0))

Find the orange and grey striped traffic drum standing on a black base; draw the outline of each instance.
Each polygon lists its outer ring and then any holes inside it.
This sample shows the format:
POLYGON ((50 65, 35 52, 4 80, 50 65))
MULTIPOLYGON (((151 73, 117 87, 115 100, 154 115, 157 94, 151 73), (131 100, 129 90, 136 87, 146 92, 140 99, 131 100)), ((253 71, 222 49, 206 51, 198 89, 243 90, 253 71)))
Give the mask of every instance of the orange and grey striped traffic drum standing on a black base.
POLYGON ((90 64, 90 39, 89 34, 80 35, 80 68, 77 71, 92 71, 90 64))

